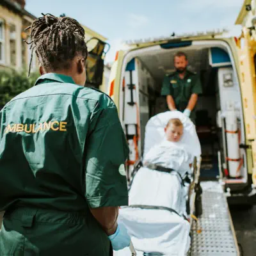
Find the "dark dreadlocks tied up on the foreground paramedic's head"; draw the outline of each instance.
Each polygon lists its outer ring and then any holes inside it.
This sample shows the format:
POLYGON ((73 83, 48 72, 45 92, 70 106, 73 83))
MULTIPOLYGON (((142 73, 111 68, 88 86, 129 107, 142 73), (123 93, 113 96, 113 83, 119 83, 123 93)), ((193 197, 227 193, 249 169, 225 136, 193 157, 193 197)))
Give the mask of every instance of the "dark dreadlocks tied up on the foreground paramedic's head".
POLYGON ((26 28, 31 29, 31 42, 26 43, 30 44, 32 49, 28 76, 34 51, 47 72, 68 69, 70 61, 78 54, 86 60, 88 51, 84 42, 84 29, 79 22, 68 17, 55 17, 49 13, 42 15, 43 17, 36 19, 26 28))

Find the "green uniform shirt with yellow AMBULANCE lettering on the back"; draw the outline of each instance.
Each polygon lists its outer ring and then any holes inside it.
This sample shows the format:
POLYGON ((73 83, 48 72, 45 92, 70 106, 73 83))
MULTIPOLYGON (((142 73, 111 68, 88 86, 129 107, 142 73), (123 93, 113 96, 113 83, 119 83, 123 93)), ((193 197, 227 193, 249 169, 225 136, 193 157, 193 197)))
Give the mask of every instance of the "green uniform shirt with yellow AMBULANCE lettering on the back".
POLYGON ((45 74, 0 117, 0 211, 128 205, 129 149, 108 95, 45 74))

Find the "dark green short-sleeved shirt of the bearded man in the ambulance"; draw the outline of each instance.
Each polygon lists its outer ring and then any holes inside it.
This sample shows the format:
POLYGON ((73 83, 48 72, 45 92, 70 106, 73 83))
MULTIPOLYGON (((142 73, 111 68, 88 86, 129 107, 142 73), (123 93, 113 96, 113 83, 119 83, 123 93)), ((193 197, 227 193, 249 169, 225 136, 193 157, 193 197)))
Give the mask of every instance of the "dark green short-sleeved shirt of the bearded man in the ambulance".
POLYGON ((193 93, 202 93, 202 85, 200 77, 189 70, 186 71, 184 79, 180 79, 178 72, 164 77, 161 95, 172 95, 177 110, 186 109, 193 93))

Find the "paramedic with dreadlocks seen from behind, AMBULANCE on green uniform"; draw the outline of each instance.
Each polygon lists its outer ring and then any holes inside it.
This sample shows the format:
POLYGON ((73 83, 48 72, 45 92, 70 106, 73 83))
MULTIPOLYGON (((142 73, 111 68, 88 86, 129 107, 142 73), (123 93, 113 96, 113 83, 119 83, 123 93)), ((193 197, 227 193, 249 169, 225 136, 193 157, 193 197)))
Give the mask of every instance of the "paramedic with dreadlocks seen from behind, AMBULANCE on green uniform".
POLYGON ((76 20, 43 15, 30 44, 42 76, 0 112, 0 255, 112 255, 131 240, 116 221, 129 152, 116 106, 84 87, 76 20))

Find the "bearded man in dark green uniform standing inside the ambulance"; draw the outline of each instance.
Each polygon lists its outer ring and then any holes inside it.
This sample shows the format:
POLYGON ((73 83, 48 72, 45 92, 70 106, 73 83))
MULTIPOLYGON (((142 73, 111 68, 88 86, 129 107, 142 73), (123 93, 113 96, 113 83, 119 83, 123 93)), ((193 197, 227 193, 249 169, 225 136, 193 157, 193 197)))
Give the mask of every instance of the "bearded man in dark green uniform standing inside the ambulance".
POLYGON ((202 93, 199 76, 187 69, 188 58, 184 52, 174 56, 176 72, 164 77, 161 95, 166 96, 168 109, 182 111, 195 122, 198 94, 202 93))

